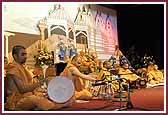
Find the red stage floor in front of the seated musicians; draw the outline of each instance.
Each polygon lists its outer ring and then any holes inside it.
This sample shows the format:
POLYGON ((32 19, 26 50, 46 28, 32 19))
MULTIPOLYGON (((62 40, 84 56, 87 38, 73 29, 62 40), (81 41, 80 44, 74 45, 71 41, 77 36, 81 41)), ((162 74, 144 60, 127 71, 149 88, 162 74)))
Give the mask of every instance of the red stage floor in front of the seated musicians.
MULTIPOLYGON (((77 100, 72 106, 58 111, 116 111, 127 104, 127 102, 120 103, 113 100, 114 98, 77 100)), ((131 92, 131 102, 133 108, 122 111, 164 111, 164 86, 136 89, 131 92)))

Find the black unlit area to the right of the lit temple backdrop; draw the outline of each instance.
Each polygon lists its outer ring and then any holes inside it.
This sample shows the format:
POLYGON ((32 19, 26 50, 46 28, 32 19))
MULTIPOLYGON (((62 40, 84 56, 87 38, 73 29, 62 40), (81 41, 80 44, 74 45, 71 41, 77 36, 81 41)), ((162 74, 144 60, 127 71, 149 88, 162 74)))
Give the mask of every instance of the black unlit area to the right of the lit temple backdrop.
POLYGON ((143 57, 153 56, 159 69, 164 68, 164 5, 103 4, 117 11, 119 48, 127 55, 130 47, 143 57))

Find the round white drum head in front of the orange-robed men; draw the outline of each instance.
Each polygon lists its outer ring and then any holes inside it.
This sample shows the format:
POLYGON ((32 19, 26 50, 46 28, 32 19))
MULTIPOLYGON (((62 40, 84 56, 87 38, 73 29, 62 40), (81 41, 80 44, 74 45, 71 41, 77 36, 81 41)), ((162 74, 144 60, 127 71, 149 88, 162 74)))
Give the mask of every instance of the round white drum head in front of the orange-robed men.
POLYGON ((67 102, 74 94, 74 85, 66 77, 56 76, 48 84, 48 96, 56 103, 67 102))

